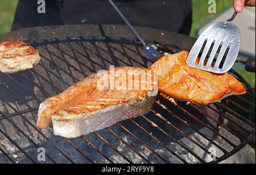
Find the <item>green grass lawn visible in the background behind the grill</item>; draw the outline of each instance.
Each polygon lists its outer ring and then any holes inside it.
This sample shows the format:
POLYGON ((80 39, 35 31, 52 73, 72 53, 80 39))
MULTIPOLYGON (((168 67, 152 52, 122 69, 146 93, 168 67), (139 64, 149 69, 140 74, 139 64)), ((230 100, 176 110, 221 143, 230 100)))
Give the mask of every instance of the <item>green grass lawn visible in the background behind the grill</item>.
MULTIPOLYGON (((208 13, 208 0, 192 0, 193 3, 193 24, 191 36, 195 37, 196 30, 208 22, 208 20, 216 17, 224 10, 232 6, 232 0, 216 0, 217 13, 208 13)), ((0 0, 0 35, 11 30, 14 14, 18 0, 0 0)), ((248 73, 244 69, 238 70, 239 73, 255 87, 255 73, 248 73)))

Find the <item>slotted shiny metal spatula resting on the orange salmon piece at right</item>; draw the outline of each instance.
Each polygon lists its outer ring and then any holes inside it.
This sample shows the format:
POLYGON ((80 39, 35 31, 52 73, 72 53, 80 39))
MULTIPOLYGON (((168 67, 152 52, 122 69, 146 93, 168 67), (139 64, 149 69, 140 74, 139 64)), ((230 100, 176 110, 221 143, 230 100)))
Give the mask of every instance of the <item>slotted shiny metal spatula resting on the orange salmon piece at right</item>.
POLYGON ((240 30, 232 23, 236 16, 234 12, 232 18, 212 24, 200 35, 188 55, 189 66, 213 73, 225 73, 232 68, 241 43, 240 30))

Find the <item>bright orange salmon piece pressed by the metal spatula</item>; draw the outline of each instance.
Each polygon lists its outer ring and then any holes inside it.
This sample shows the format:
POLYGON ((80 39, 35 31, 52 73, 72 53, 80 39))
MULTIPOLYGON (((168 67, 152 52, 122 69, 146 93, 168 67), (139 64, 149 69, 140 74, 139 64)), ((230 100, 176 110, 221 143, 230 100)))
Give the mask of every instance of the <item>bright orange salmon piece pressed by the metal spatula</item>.
POLYGON ((187 57, 186 51, 166 55, 148 67, 157 70, 161 93, 204 105, 246 93, 245 87, 229 73, 214 74, 192 68, 186 62, 187 57))

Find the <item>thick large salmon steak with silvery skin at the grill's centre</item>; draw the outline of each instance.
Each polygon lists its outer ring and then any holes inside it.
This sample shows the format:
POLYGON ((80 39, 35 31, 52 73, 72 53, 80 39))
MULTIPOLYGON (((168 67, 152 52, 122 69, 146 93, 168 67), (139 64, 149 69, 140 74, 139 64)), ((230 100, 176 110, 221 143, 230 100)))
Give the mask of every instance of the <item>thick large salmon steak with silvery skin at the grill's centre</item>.
POLYGON ((110 83, 107 87, 102 85, 104 88, 99 88, 98 83, 112 81, 109 78, 112 74, 110 70, 92 74, 63 93, 42 102, 38 111, 37 126, 46 128, 53 124, 55 135, 76 138, 112 126, 121 120, 148 113, 157 94, 151 93, 157 90, 158 80, 152 70, 149 72, 150 81, 138 76, 139 72, 148 73, 148 70, 115 68, 112 88, 110 83), (125 84, 120 83, 121 79, 124 80, 123 75, 126 77, 125 84), (128 84, 133 86, 129 89, 128 84), (135 84, 139 85, 139 88, 136 89, 135 84))

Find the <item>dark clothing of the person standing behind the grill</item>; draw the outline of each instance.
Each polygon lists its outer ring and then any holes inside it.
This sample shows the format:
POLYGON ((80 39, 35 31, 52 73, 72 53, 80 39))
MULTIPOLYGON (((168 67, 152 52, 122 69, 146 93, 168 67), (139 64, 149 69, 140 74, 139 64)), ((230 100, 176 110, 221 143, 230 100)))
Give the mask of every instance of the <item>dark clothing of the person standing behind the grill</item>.
MULTIPOLYGON (((38 14, 37 1, 19 0, 13 30, 63 24, 125 24, 106 0, 45 1, 46 14, 38 14)), ((117 0, 115 4, 133 26, 186 35, 191 30, 191 0, 117 0)))

